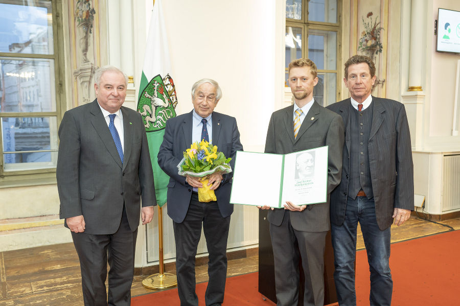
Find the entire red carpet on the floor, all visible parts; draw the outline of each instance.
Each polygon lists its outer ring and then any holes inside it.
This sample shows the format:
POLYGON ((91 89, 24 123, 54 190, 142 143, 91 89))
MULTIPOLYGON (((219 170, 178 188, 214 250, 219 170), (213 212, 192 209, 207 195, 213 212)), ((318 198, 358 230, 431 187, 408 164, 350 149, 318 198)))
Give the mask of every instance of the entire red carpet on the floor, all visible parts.
MULTIPOLYGON (((460 230, 392 244, 393 306, 460 305, 460 230)), ((208 283, 196 285, 200 305, 208 283)), ((257 291, 258 273, 228 277, 224 305, 271 306, 257 291)), ((369 305, 369 265, 365 250, 356 254, 359 306, 369 305)), ((178 306, 177 288, 131 299, 132 306, 178 306)))

